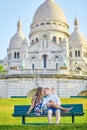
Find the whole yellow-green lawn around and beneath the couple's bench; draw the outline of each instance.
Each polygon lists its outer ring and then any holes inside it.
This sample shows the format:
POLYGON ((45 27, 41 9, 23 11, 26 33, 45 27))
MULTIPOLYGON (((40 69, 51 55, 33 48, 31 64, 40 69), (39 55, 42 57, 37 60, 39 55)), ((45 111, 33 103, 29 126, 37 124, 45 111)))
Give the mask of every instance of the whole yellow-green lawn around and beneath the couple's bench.
MULTIPOLYGON (((75 124, 71 123, 71 117, 62 117, 60 125, 47 125, 47 126, 30 126, 30 125, 21 125, 21 118, 12 117, 12 113, 14 110, 14 105, 24 105, 24 104, 30 104, 29 98, 22 98, 22 99, 16 99, 16 98, 9 98, 9 99, 0 99, 0 130, 27 130, 31 128, 31 130, 42 130, 43 128, 46 130, 56 130, 57 127, 59 129, 64 130, 87 130, 87 99, 82 98, 63 98, 61 99, 63 104, 67 103, 81 103, 84 106, 84 112, 85 115, 82 117, 76 117, 75 118, 75 124)), ((53 118, 53 120, 55 120, 53 118)), ((27 122, 47 122, 47 118, 27 118, 27 122)))

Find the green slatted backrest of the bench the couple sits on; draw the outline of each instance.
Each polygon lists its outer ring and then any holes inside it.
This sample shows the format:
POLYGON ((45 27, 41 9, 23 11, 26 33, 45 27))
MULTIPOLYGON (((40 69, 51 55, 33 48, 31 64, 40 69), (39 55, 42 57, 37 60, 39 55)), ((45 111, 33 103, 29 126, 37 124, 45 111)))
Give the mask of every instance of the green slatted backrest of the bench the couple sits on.
MULTIPOLYGON (((63 107, 69 108, 73 107, 73 109, 69 113, 83 113, 83 105, 82 104, 62 104, 63 107)), ((25 115, 29 109, 30 105, 16 105, 14 106, 14 114, 15 115, 25 115)), ((31 111, 31 115, 33 115, 34 111, 31 111)))

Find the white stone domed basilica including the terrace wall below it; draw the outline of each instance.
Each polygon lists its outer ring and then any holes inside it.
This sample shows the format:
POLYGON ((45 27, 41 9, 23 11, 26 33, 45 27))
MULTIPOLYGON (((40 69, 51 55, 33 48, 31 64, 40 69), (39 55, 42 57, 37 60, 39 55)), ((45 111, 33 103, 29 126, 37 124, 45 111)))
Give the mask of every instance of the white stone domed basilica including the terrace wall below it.
POLYGON ((38 87, 54 87, 59 97, 87 96, 87 41, 75 18, 73 32, 56 0, 44 0, 30 25, 29 43, 22 32, 9 39, 1 61, 0 97, 31 97, 38 87))

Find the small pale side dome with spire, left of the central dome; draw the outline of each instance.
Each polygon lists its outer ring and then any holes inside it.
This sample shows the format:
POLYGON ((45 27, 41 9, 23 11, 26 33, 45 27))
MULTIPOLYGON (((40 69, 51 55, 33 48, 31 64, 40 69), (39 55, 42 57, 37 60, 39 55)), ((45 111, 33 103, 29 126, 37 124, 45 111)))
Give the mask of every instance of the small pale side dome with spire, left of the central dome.
POLYGON ((21 20, 17 23, 17 33, 11 38, 9 48, 19 48, 23 44, 28 44, 25 35, 22 33, 21 20))

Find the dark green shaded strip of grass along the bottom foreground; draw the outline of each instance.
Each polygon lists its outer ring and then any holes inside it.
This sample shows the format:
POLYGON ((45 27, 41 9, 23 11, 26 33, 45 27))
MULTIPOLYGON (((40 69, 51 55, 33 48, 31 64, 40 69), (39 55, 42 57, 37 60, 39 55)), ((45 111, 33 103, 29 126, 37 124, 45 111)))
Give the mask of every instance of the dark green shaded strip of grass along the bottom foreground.
POLYGON ((87 130, 87 124, 68 124, 68 125, 47 125, 47 126, 31 126, 31 125, 10 125, 1 126, 0 130, 87 130))

